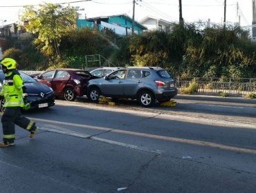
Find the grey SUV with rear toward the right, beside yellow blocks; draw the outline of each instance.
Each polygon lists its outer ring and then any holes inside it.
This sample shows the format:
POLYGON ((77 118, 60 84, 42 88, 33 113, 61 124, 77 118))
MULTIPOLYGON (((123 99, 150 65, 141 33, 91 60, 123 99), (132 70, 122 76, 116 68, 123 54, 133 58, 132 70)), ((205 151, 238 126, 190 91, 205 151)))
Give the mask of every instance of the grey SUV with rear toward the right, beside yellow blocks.
POLYGON ((150 107, 156 100, 163 102, 177 94, 176 81, 162 68, 125 68, 100 79, 89 81, 87 96, 98 101, 100 95, 136 99, 150 107))

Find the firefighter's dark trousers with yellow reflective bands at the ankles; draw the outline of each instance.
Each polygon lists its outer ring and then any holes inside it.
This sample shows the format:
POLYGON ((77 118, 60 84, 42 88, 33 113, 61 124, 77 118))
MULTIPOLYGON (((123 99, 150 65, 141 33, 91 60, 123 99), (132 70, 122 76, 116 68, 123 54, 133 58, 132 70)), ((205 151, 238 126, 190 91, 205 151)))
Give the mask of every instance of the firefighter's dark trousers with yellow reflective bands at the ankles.
POLYGON ((15 124, 28 131, 35 127, 33 121, 30 121, 25 116, 21 116, 21 108, 19 107, 6 108, 1 121, 3 125, 3 141, 13 142, 15 140, 15 124), (5 137, 11 135, 13 137, 5 137))

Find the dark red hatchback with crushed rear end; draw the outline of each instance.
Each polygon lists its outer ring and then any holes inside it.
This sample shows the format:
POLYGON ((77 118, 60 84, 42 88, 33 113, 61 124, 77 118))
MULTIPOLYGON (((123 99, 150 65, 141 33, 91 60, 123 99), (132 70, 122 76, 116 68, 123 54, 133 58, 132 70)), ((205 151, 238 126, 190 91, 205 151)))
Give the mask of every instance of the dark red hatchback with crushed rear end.
POLYGON ((34 79, 51 87, 55 96, 63 96, 66 101, 74 101, 77 96, 86 95, 88 81, 98 77, 94 77, 86 70, 55 69, 48 70, 34 79))

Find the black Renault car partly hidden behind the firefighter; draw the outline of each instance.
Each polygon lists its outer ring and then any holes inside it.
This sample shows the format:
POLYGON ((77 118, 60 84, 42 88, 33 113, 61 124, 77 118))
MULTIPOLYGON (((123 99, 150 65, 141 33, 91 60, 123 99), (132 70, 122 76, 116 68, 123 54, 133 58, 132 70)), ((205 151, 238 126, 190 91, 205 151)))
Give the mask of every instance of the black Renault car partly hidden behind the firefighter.
MULTIPOLYGON (((55 97, 53 90, 47 85, 38 83, 35 79, 28 76, 24 72, 19 72, 21 79, 24 81, 26 86, 26 92, 28 93, 27 100, 30 102, 31 108, 49 108, 55 105, 55 97)), ((3 79, 5 74, 3 70, 0 70, 0 88, 2 87, 3 79)), ((0 97, 0 110, 3 111, 4 104, 3 96, 0 97)))

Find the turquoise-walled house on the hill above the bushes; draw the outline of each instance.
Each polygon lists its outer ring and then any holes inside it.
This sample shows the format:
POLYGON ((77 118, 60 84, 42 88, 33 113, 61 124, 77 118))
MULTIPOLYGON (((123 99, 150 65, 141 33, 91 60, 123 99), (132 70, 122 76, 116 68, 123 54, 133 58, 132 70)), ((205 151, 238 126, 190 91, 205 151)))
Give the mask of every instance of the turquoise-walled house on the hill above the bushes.
MULTIPOLYGON (((127 14, 116 14, 111 16, 92 17, 88 19, 77 19, 77 28, 94 28, 101 31, 103 28, 109 28, 120 36, 131 34, 132 19, 127 14)), ((140 34, 147 27, 138 21, 134 21, 134 33, 140 34)))

